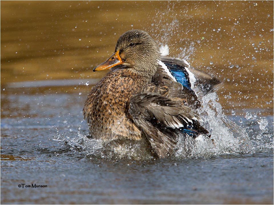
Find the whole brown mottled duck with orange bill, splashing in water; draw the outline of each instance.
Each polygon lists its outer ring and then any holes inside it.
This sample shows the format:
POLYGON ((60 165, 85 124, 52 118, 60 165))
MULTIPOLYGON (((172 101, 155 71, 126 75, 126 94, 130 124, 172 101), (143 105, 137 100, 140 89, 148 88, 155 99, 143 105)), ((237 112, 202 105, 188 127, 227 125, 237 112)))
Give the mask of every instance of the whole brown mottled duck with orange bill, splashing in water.
POLYGON ((160 52, 143 30, 118 38, 114 54, 93 69, 110 72, 92 87, 84 104, 92 138, 105 145, 145 140, 156 157, 164 158, 172 156, 180 135, 211 137, 196 112, 201 103, 194 86, 202 82, 208 92, 219 81, 167 54, 168 47, 160 52))

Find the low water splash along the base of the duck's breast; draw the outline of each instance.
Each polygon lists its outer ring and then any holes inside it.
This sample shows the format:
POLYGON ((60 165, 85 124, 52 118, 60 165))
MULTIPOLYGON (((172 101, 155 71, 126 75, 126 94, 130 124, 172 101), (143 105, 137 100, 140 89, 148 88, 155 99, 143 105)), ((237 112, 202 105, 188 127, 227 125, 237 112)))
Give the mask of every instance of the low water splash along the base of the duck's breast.
POLYGON ((81 153, 90 159, 134 159, 134 160, 148 160, 153 159, 154 155, 148 148, 147 140, 134 142, 131 140, 111 141, 104 144, 102 140, 93 139, 88 134, 81 133, 81 127, 78 126, 77 134, 67 136, 66 133, 59 134, 52 139, 59 142, 64 142, 69 150, 72 152, 81 153))

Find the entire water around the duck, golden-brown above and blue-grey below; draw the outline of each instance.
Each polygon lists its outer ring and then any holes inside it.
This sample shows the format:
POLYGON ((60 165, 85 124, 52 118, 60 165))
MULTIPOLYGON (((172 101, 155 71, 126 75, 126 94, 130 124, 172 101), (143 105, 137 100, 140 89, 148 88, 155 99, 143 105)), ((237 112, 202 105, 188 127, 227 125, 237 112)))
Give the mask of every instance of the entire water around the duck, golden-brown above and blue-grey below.
POLYGON ((273 204, 271 8, 1 1, 1 204, 273 204), (110 155, 88 138, 82 108, 105 75, 90 67, 132 28, 223 80, 198 110, 214 144, 180 139, 171 158, 132 159, 138 145, 110 155))

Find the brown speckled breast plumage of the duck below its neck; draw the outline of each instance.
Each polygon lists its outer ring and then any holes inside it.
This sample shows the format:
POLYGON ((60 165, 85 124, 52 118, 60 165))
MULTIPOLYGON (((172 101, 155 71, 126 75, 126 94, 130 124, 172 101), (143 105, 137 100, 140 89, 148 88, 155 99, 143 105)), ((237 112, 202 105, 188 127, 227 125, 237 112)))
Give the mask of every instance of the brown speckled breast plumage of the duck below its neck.
POLYGON ((106 142, 118 138, 139 140, 141 132, 128 119, 126 104, 132 95, 143 90, 146 83, 146 77, 128 69, 107 73, 92 88, 84 105, 84 117, 92 136, 103 138, 106 142))

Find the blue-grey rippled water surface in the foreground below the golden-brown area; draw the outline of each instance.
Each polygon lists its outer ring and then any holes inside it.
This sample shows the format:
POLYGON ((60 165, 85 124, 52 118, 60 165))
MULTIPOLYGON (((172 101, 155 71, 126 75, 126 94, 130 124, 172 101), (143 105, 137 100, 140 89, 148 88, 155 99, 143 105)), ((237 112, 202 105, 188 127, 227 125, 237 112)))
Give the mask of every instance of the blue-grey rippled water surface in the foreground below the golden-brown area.
MULTIPOLYGON (((1 101, 1 203, 273 202, 273 126, 267 126, 270 138, 257 139, 262 130, 254 119, 239 123, 239 117, 228 116, 248 130, 254 148, 247 154, 225 144, 231 149, 217 145, 219 149, 206 148, 206 153, 188 159, 102 159, 94 152, 98 142, 84 138, 85 99, 71 90, 19 89, 16 95, 5 95, 11 103, 1 101), (58 136, 62 140, 56 140, 58 136), (19 188, 21 184, 47 188, 19 188)), ((266 119, 273 123, 271 116, 266 119)))

